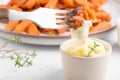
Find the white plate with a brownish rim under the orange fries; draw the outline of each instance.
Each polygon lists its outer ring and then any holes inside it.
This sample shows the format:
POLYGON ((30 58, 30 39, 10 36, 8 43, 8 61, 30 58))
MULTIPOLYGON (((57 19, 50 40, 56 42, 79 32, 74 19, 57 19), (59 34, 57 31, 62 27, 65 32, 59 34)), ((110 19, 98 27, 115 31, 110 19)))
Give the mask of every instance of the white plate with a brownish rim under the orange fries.
MULTIPOLYGON (((0 4, 7 3, 8 1, 9 0, 1 0, 0 4)), ((103 33, 103 32, 106 32, 106 31, 114 28, 116 21, 117 21, 118 17, 120 16, 119 5, 120 5, 120 3, 118 0, 108 0, 102 6, 102 9, 106 10, 107 12, 109 12, 111 14, 111 17, 112 17, 111 24, 113 27, 93 33, 95 36, 98 35, 98 33, 103 33)), ((16 35, 16 33, 14 33, 14 32, 5 31, 4 28, 5 28, 5 25, 0 24, 0 37, 8 38, 8 37, 13 37, 14 35, 16 35)), ((44 34, 40 35, 40 36, 31 36, 31 35, 27 35, 24 33, 17 34, 17 35, 22 38, 23 43, 37 44, 37 45, 60 45, 63 41, 70 38, 70 36, 69 36, 70 33, 65 33, 65 34, 56 35, 56 36, 46 36, 44 34)), ((92 35, 92 36, 94 36, 94 35, 92 35)))

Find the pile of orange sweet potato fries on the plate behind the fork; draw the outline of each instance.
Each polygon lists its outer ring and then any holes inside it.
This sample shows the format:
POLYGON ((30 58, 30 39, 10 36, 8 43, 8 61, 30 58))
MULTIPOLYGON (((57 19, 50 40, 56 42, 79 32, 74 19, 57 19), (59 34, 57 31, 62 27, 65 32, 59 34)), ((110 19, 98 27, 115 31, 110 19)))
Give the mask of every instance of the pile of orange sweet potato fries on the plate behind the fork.
MULTIPOLYGON (((76 7, 82 7, 87 9, 87 12, 90 12, 87 15, 89 18, 92 16, 91 19, 93 20, 93 26, 91 26, 90 32, 95 32, 111 27, 110 14, 99 9, 103 3, 105 3, 105 0, 10 0, 8 4, 0 5, 0 8, 33 11, 39 7, 62 10, 74 10, 76 7)), ((9 22, 5 29, 15 31, 16 33, 26 32, 29 35, 40 35, 44 33, 51 36, 69 31, 67 29, 39 28, 35 23, 27 20, 9 22)))

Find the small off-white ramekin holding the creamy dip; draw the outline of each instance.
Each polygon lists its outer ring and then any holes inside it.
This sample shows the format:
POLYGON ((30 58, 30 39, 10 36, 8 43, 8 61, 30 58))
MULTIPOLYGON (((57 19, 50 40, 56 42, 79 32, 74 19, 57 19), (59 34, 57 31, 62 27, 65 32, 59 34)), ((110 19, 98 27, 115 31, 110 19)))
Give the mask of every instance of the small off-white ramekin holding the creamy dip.
POLYGON ((109 57, 112 47, 109 43, 100 41, 108 52, 96 57, 73 57, 65 53, 64 48, 69 45, 72 39, 63 42, 60 46, 63 69, 70 80, 103 80, 108 69, 109 57))

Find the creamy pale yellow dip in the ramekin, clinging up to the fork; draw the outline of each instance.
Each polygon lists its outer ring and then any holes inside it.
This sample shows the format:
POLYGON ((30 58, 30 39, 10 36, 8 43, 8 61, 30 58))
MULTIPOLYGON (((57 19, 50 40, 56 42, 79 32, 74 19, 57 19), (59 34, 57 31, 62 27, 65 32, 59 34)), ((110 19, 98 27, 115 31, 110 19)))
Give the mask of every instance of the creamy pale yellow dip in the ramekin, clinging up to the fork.
POLYGON ((66 48, 66 53, 72 56, 91 57, 107 52, 102 43, 88 38, 90 26, 92 21, 87 20, 79 29, 71 29, 73 42, 66 48))

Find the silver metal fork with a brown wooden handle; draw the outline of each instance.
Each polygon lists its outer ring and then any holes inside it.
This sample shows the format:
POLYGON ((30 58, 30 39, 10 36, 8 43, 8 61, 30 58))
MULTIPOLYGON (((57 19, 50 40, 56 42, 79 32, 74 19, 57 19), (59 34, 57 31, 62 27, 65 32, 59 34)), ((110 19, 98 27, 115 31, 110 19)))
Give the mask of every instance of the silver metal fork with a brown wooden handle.
POLYGON ((70 10, 55 10, 48 8, 38 8, 31 12, 20 12, 16 10, 9 10, 7 8, 0 9, 0 22, 15 21, 15 20, 30 20, 36 23, 41 28, 65 29, 69 28, 68 23, 70 10), (61 15, 59 15, 61 14, 61 15), (68 16, 64 16, 68 14, 68 16), (64 20, 66 18, 66 20, 64 20))

